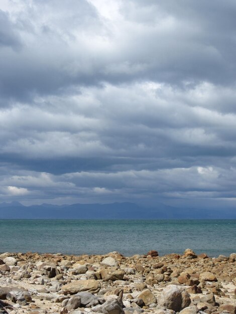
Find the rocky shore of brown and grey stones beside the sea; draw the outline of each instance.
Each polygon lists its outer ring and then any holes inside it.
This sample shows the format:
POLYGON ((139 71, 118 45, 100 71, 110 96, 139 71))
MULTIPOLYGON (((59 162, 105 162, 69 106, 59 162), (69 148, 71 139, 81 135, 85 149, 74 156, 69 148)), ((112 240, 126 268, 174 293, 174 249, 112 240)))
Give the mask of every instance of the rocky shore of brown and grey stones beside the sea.
POLYGON ((236 253, 3 253, 0 313, 236 314, 236 253))

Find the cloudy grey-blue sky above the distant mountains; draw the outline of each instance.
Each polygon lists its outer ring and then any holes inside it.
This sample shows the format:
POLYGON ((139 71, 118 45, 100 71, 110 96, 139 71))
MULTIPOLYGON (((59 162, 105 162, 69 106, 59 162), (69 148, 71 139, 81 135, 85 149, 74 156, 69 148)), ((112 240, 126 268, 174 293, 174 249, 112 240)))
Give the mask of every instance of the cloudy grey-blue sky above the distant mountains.
POLYGON ((236 205, 234 0, 1 0, 0 201, 236 205))

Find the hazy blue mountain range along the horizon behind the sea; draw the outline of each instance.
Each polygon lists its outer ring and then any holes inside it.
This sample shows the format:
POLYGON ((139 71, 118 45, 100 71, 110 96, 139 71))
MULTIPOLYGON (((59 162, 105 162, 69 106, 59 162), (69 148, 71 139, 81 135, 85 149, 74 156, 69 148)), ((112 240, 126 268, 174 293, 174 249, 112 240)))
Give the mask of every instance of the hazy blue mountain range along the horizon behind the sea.
POLYGON ((1 203, 0 219, 236 219, 235 209, 181 209, 156 204, 141 207, 134 203, 32 205, 1 203))

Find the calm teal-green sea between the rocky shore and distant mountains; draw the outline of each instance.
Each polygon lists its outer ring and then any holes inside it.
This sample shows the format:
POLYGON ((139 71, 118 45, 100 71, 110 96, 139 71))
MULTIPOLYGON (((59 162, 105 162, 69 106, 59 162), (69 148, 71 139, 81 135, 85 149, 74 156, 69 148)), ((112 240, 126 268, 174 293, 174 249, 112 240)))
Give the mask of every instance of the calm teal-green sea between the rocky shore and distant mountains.
POLYGON ((0 252, 125 256, 191 248, 209 257, 236 252, 236 220, 0 220, 0 252))

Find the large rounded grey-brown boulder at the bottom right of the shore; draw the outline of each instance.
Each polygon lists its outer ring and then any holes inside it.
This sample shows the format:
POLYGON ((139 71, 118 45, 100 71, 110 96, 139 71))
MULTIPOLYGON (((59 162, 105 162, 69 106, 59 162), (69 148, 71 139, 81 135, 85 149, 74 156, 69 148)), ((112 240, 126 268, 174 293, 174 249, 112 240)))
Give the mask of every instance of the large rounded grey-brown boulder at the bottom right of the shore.
POLYGON ((158 304, 174 311, 180 311, 191 303, 189 294, 177 285, 168 285, 160 294, 158 304))

